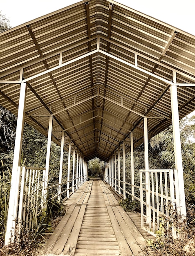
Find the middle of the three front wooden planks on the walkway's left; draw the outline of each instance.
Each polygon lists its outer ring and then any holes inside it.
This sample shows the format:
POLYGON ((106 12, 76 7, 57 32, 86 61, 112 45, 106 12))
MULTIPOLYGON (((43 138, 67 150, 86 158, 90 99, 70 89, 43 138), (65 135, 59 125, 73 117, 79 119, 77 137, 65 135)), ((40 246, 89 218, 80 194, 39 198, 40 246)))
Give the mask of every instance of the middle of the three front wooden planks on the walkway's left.
POLYGON ((70 232, 72 230, 72 227, 74 225, 74 222, 76 220, 76 217, 78 215, 78 212, 80 210, 81 207, 76 206, 74 208, 74 211, 72 213, 72 215, 70 216, 67 225, 65 225, 65 228, 62 231, 62 235, 59 238, 59 240, 57 241, 57 243, 54 245, 54 248, 51 250, 52 254, 61 254, 61 252, 64 249, 64 246, 68 240, 68 237, 70 235, 70 232))

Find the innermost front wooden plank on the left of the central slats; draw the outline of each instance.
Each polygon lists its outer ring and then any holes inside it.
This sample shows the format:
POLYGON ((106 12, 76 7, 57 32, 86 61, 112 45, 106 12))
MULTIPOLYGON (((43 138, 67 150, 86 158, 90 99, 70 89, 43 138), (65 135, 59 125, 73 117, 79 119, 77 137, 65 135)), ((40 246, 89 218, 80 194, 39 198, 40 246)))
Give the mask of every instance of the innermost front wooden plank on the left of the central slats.
POLYGON ((74 255, 75 249, 76 249, 76 244, 78 240, 78 236, 81 230, 81 225, 83 222, 83 216, 85 214, 85 209, 86 209, 86 204, 83 204, 81 206, 81 209, 78 213, 78 217, 75 221, 74 227, 72 229, 72 232, 69 236, 69 239, 67 241, 67 245, 65 246, 63 250, 63 254, 68 254, 68 255, 74 255))

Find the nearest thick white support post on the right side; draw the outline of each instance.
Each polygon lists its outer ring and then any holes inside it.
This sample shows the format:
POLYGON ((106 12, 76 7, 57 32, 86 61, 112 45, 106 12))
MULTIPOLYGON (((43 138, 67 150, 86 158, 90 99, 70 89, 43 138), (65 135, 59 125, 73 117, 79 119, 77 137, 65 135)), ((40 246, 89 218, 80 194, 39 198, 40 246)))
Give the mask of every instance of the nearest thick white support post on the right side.
MULTIPOLYGON (((173 81, 176 83, 176 73, 173 72, 173 81)), ((179 195, 176 195, 177 211, 186 218, 186 200, 184 191, 184 174, 182 164, 182 149, 181 138, 179 128, 179 110, 177 100, 177 85, 170 86, 170 99, 171 99, 171 112, 172 112, 172 124, 173 124, 173 141, 175 152, 175 168, 178 171, 179 181, 179 195)))

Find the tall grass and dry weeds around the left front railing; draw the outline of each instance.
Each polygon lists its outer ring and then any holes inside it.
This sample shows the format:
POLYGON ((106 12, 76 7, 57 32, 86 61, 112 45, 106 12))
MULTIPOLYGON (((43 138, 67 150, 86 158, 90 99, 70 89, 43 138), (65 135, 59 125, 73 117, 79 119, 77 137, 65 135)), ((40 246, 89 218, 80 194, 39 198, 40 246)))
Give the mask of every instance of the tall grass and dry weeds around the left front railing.
POLYGON ((52 195, 47 195, 47 203, 41 207, 43 201, 40 186, 42 177, 33 181, 27 180, 29 187, 25 187, 22 218, 16 220, 15 243, 4 245, 7 213, 9 206, 9 192, 11 186, 11 173, 5 168, 1 160, 0 170, 0 255, 36 255, 36 250, 45 242, 44 234, 51 231, 52 212, 60 211, 60 206, 55 200, 49 200, 52 195), (39 185, 38 185, 39 184, 39 185), (37 190, 38 189, 38 190, 37 190), (37 193, 37 191, 40 191, 37 193), (28 201, 28 202, 27 202, 28 201))

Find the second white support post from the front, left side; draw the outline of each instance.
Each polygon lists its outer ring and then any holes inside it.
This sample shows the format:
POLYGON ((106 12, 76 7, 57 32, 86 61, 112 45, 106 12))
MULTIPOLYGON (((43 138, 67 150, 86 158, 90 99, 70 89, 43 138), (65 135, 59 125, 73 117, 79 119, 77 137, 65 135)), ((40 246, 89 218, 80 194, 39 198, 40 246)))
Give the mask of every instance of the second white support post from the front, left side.
POLYGON ((47 202, 47 186, 48 186, 48 176, 49 176, 49 162, 50 162, 50 153, 52 145, 52 126, 53 126, 53 117, 49 117, 49 128, 47 135, 47 153, 46 153, 46 162, 45 162, 45 171, 43 171, 43 187, 42 187, 42 208, 47 202))

